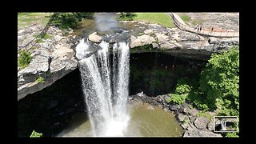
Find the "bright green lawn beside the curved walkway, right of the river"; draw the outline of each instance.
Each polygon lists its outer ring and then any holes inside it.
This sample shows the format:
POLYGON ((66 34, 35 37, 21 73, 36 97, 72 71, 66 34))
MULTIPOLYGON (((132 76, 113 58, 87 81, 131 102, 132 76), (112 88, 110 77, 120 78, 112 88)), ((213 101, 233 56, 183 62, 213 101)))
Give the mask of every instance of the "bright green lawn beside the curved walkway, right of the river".
POLYGON ((146 21, 150 23, 158 23, 161 26, 174 27, 172 18, 166 13, 134 13, 136 16, 134 20, 146 21))

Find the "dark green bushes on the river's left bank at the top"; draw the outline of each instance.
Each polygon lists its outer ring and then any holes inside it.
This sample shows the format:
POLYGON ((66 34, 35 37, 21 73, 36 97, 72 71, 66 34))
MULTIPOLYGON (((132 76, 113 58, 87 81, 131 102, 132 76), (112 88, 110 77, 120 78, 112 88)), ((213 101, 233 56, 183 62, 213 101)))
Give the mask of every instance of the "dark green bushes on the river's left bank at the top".
POLYGON ((83 18, 93 18, 94 13, 58 13, 54 18, 54 24, 61 26, 61 28, 76 28, 78 22, 83 18))

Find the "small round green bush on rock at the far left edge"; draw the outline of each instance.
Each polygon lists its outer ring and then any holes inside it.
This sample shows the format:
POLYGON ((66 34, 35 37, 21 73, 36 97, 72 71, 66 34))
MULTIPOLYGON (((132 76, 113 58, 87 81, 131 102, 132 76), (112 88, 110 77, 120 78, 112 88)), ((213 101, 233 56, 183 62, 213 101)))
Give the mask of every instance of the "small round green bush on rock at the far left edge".
POLYGON ((29 51, 22 50, 19 52, 20 56, 18 57, 18 67, 24 69, 28 66, 32 60, 31 54, 29 51))

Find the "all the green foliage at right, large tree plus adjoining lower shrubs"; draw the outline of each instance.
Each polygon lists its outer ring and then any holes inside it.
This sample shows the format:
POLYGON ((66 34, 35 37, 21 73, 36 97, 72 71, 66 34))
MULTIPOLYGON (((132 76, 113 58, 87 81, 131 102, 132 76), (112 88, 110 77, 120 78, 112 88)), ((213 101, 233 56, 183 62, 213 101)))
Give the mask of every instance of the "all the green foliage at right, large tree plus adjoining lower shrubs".
POLYGON ((239 50, 212 54, 200 77, 180 78, 168 102, 188 101, 198 110, 239 116, 239 50))

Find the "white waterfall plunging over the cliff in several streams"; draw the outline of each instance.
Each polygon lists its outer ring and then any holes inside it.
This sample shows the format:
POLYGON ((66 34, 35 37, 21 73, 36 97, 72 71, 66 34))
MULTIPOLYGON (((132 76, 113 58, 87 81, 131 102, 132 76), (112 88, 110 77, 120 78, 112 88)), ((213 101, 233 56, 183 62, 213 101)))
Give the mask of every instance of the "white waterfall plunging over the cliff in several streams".
POLYGON ((90 49, 88 42, 82 39, 76 47, 92 132, 94 136, 123 136, 130 121, 126 110, 130 48, 126 42, 115 43, 111 59, 109 43, 98 46, 90 57, 85 55, 90 49))

